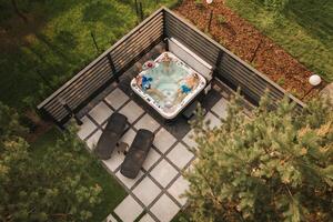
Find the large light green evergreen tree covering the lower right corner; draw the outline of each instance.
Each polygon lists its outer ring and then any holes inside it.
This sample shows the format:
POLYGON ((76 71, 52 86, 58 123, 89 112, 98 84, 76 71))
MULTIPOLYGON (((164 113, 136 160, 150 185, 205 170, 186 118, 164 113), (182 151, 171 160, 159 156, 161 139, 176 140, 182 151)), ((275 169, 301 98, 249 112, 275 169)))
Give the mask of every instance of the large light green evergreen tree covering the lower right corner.
POLYGON ((253 118, 240 97, 220 128, 193 123, 198 161, 186 173, 193 221, 330 221, 333 218, 333 111, 321 100, 301 114, 287 99, 253 118))

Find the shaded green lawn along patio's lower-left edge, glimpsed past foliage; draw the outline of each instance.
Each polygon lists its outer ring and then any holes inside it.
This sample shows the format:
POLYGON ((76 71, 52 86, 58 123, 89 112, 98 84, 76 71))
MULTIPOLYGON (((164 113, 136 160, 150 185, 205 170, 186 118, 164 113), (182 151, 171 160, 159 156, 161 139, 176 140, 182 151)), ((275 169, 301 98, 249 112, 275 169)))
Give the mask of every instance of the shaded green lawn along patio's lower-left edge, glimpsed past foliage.
MULTIPOLYGON (((42 158, 49 144, 56 143, 57 139, 61 135, 58 129, 53 128, 31 145, 31 153, 36 161, 42 158)), ((88 151, 85 154, 91 155, 88 151)), ((127 196, 127 192, 98 161, 92 161, 91 165, 87 167, 87 169, 90 175, 90 180, 87 181, 87 184, 99 184, 102 188, 102 202, 94 208, 92 212, 93 218, 91 218, 90 221, 102 221, 127 196)))

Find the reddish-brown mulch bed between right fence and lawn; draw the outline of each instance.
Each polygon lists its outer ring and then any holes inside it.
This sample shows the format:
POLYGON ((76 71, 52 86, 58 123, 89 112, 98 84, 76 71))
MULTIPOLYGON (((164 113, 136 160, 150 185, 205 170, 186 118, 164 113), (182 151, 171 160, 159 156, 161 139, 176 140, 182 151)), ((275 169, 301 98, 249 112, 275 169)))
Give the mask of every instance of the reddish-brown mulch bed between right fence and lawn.
MULTIPOLYGON (((319 93, 320 90, 313 89, 307 82, 312 73, 310 70, 250 22, 240 18, 223 0, 214 0, 212 6, 203 2, 203 7, 199 7, 193 0, 184 0, 175 11, 204 31, 208 27, 209 11, 213 10, 210 36, 215 41, 280 83, 296 98, 306 101, 319 93), (219 14, 224 18, 224 22, 219 22, 219 14)), ((324 85, 321 84, 321 88, 324 85)))

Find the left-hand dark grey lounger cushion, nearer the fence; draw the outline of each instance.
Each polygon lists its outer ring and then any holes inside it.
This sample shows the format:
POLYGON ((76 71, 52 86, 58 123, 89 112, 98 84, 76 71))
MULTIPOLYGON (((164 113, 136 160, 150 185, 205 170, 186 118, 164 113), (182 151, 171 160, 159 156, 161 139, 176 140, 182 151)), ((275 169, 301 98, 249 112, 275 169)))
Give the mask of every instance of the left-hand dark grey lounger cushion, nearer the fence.
POLYGON ((108 121, 108 124, 99 139, 95 147, 95 154, 102 159, 108 160, 111 158, 117 143, 123 134, 128 123, 128 118, 120 113, 113 113, 108 121))

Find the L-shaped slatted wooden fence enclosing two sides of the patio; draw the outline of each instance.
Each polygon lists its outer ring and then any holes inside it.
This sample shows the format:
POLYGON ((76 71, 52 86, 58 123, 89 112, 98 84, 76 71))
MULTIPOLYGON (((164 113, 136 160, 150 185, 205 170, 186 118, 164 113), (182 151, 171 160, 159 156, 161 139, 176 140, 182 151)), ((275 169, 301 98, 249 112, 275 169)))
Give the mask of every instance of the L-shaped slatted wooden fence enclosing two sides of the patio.
MULTIPOLYGON (((240 87, 254 104, 258 104, 266 89, 273 101, 281 100, 286 93, 194 26, 171 10, 161 8, 40 103, 38 109, 62 127, 111 82, 118 81, 143 54, 171 37, 211 64, 215 78, 233 89, 240 87)), ((299 109, 303 108, 302 101, 289 97, 299 109)))

